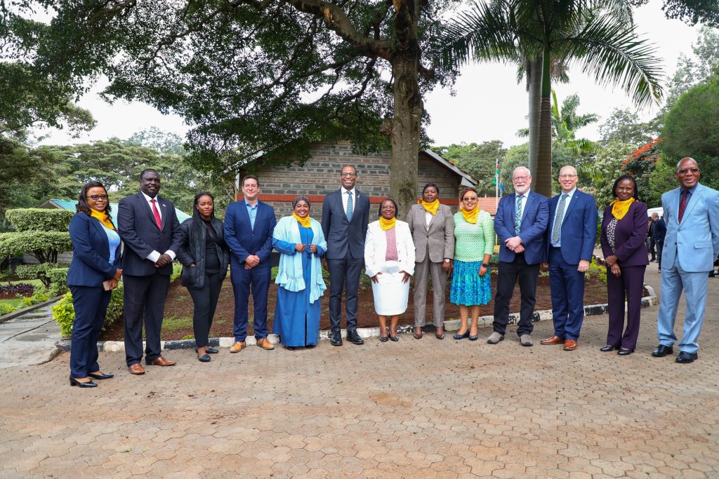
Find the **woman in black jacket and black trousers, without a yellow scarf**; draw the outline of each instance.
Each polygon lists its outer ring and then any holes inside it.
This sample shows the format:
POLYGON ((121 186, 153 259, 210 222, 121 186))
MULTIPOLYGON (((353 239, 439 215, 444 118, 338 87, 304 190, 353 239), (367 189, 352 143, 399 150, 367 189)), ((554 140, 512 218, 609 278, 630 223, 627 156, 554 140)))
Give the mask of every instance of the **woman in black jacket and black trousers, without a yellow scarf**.
POLYGON ((178 261, 183 265, 180 284, 188 289, 195 306, 192 326, 195 330, 197 358, 203 363, 210 361, 209 354, 217 353, 215 348, 209 346, 209 334, 229 265, 224 225, 215 218, 214 211, 214 197, 211 194, 199 192, 195 195, 192 218, 180 225, 183 243, 177 254, 178 261))

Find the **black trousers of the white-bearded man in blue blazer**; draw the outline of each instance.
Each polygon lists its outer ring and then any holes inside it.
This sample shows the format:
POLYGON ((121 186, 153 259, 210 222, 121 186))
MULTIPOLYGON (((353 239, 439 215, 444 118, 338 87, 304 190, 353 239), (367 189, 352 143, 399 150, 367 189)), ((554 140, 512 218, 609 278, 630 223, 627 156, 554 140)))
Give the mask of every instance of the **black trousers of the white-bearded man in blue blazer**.
POLYGON ((514 285, 519 279, 519 291, 522 302, 517 325, 517 335, 531 334, 534 329, 532 315, 536 302, 537 276, 539 264, 526 264, 523 254, 516 254, 511 263, 500 261, 497 278, 497 294, 495 296, 495 315, 492 323, 494 330, 500 335, 507 331, 509 322, 509 301, 512 299, 514 285))

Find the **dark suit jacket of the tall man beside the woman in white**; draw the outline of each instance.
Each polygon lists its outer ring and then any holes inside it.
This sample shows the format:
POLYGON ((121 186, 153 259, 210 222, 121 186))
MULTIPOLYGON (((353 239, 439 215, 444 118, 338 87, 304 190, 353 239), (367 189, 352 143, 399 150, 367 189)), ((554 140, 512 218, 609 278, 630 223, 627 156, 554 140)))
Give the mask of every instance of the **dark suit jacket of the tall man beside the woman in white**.
POLYGON ((347 220, 342 206, 344 188, 324 197, 322 203, 322 232, 327 241, 326 259, 352 259, 365 256, 365 238, 370 223, 370 198, 354 190, 352 221, 347 220))

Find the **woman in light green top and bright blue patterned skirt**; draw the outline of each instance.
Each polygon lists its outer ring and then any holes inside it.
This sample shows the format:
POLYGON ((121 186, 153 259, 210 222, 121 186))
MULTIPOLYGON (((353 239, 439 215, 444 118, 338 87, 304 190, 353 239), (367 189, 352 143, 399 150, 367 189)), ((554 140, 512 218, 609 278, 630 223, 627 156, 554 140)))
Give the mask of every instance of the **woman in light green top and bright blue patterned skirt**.
POLYGON ((477 190, 469 187, 459 195, 459 213, 454 215, 454 273, 449 300, 459 305, 462 327, 454 339, 477 340, 480 304, 492 299, 490 258, 494 250, 495 232, 492 217, 477 206, 477 190), (467 318, 472 313, 472 326, 467 318))

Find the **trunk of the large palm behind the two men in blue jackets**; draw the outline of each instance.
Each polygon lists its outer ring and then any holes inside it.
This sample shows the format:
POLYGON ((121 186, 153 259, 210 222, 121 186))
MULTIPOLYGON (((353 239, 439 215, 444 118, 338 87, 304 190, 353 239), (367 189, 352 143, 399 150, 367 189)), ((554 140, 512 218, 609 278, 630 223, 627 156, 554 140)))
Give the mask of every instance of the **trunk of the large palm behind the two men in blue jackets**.
POLYGON ((533 180, 536 192, 551 197, 551 50, 549 45, 545 45, 542 55, 537 172, 533 180))

